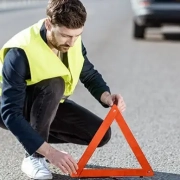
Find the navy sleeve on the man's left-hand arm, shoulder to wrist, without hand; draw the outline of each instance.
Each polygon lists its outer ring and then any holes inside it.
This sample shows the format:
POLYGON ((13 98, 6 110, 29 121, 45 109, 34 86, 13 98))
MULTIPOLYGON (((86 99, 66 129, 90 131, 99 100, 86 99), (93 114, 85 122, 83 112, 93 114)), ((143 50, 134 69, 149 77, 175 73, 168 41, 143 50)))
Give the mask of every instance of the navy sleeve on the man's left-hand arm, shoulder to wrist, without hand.
POLYGON ((13 48, 5 56, 2 69, 1 117, 5 126, 32 155, 43 144, 43 138, 23 116, 26 76, 29 65, 22 49, 13 48))

